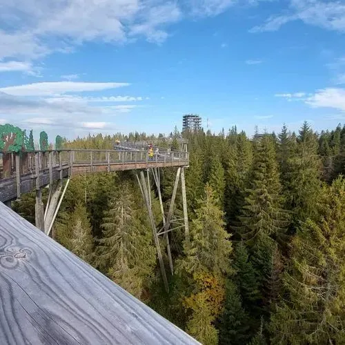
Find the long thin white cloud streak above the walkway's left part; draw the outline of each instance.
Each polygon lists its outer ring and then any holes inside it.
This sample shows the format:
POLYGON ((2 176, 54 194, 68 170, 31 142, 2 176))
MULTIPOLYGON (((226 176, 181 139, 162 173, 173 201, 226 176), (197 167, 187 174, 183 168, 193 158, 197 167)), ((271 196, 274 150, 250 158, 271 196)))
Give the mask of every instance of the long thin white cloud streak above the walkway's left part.
POLYGON ((19 86, 0 88, 0 92, 14 96, 51 96, 68 92, 98 91, 121 86, 129 86, 129 83, 86 83, 78 81, 52 81, 32 83, 19 86))

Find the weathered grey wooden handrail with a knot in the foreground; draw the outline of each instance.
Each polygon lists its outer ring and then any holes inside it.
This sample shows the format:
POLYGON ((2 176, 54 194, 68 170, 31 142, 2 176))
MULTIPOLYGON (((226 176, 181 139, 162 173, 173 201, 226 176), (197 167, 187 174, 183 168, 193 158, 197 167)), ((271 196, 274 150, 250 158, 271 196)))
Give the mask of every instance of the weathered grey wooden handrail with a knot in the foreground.
POLYGON ((0 344, 198 344, 0 202, 0 344))

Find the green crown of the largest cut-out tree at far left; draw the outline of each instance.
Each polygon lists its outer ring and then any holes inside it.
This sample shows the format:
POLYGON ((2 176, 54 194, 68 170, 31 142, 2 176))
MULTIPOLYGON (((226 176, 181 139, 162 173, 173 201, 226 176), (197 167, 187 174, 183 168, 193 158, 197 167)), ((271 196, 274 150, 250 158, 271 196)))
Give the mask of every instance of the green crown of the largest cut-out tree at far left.
POLYGON ((0 125, 0 150, 20 152, 24 145, 24 133, 19 127, 10 124, 0 125))

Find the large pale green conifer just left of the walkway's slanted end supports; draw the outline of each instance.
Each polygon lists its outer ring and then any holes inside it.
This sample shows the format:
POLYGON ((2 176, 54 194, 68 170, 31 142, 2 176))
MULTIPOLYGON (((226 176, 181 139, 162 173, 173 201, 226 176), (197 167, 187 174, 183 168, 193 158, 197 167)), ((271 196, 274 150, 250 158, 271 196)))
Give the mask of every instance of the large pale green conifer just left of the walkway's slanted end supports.
POLYGON ((124 181, 103 219, 96 264, 117 284, 141 297, 155 265, 152 233, 135 210, 133 190, 124 181))

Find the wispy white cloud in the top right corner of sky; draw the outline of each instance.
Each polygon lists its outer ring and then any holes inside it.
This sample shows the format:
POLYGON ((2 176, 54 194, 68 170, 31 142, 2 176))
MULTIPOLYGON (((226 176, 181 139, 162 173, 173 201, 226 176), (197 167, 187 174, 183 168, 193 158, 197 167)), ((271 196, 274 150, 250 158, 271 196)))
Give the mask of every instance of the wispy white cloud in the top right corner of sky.
POLYGON ((345 3, 338 0, 290 0, 288 14, 270 17, 263 25, 255 26, 250 32, 279 30, 284 24, 296 20, 328 30, 345 32, 345 3))

